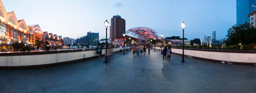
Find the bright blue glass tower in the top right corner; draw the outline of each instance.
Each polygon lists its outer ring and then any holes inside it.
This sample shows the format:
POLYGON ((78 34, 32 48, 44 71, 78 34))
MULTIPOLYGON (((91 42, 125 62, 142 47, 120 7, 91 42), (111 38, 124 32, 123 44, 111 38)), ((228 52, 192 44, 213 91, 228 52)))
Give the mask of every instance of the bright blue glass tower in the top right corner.
POLYGON ((256 0, 236 0, 236 24, 249 22, 248 15, 256 10, 256 0))

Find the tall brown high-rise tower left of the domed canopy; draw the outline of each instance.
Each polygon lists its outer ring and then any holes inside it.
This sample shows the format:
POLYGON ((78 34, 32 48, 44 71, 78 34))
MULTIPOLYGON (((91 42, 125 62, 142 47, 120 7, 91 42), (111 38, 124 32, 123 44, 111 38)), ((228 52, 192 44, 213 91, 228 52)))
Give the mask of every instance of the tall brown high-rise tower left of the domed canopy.
POLYGON ((111 18, 110 24, 110 38, 111 42, 114 42, 115 39, 123 37, 123 33, 125 33, 125 20, 120 15, 115 15, 111 18))

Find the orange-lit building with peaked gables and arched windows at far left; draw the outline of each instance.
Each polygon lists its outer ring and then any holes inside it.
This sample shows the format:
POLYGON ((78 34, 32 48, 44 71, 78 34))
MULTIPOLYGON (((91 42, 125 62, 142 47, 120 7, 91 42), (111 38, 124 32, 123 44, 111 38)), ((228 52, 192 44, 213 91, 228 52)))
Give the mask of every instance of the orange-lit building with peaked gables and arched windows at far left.
POLYGON ((25 20, 18 20, 14 12, 6 12, 0 0, 0 49, 6 49, 14 42, 32 45, 36 39, 43 40, 43 33, 38 24, 28 26, 25 20))

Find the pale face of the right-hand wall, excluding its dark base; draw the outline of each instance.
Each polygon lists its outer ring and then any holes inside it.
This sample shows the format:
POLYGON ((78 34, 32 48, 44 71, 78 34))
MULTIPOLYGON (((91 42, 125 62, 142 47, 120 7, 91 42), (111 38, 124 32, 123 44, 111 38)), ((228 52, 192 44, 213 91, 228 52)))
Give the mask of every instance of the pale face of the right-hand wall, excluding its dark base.
MULTIPOLYGON (((156 47, 156 49, 161 49, 156 47)), ((172 48, 173 53, 182 54, 182 49, 172 48)), ((213 59, 219 61, 256 63, 256 53, 232 53, 232 52, 214 52, 198 51, 184 49, 184 55, 195 56, 204 59, 213 59)))

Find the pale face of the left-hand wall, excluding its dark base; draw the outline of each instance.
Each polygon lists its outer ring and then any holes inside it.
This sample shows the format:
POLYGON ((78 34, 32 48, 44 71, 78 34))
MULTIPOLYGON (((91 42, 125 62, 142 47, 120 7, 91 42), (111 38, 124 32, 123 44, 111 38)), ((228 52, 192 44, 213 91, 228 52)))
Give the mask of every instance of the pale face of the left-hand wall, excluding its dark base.
MULTIPOLYGON (((102 54, 105 54, 105 49, 102 54)), ((120 51, 119 48, 108 49, 108 53, 120 51)), ((54 54, 0 56, 0 66, 33 66, 42 64, 54 64, 64 61, 72 61, 97 56, 96 50, 76 51, 54 54)))

